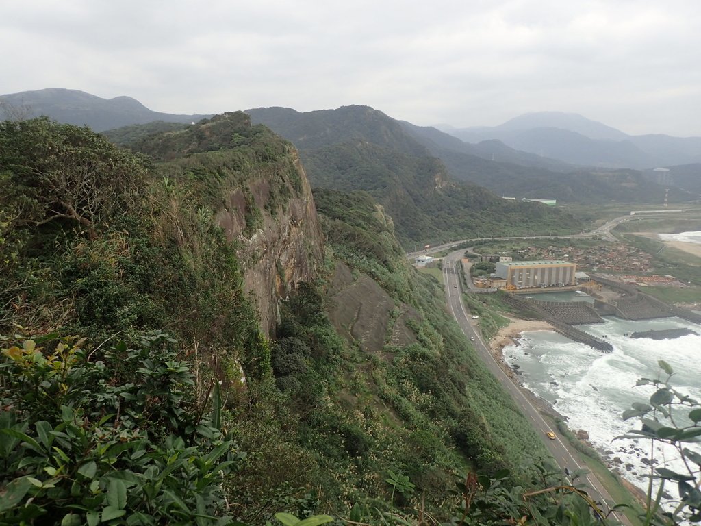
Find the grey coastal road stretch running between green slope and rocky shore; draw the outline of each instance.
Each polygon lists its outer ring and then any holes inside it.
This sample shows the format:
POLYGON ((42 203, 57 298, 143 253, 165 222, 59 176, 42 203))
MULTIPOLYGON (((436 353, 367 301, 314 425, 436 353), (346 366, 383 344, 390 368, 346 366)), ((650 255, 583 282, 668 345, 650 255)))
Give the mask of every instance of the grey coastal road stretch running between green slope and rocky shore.
MULTIPOLYGON (((460 328, 465 333, 465 336, 468 338, 474 338, 472 344, 475 346, 477 354, 480 358, 482 358, 501 386, 508 391, 508 393, 510 393, 513 400, 522 410, 526 418, 532 422, 533 428, 538 431, 543 439, 543 443, 550 451, 550 454, 552 454, 555 461, 557 461, 560 468, 562 468, 563 471, 568 469, 570 472, 578 469, 586 469, 576 450, 574 450, 569 443, 565 443, 558 435, 557 429, 553 429, 550 424, 545 421, 543 415, 540 414, 540 408, 538 407, 537 403, 533 402, 531 398, 526 396, 522 388, 506 374, 489 350, 488 342, 484 342, 484 339, 482 339, 482 335, 480 335, 478 327, 479 319, 472 319, 470 311, 465 308, 461 294, 460 259, 463 257, 463 252, 464 250, 456 250, 455 252, 451 252, 449 255, 444 257, 443 260, 443 277, 448 310, 454 316, 458 325, 460 325, 460 328), (548 431, 555 433, 555 440, 547 438, 545 433, 548 431)), ((585 480, 591 488, 588 493, 590 494, 590 497, 594 499, 594 501, 605 502, 608 508, 611 508, 611 506, 616 504, 611 495, 606 492, 604 486, 601 485, 599 480, 592 473, 588 474, 585 477, 585 480)), ((604 513, 606 513, 606 510, 604 510, 604 513)), ((623 524, 629 524, 627 518, 622 516, 621 513, 613 516, 616 520, 620 520, 623 524)))

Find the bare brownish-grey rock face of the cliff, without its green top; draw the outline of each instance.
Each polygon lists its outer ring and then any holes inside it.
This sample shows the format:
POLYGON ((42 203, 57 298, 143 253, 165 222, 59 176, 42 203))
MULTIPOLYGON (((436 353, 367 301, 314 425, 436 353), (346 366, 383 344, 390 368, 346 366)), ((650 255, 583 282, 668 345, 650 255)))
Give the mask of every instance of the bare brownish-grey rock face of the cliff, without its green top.
POLYGON ((268 334, 278 322, 278 301, 299 281, 313 280, 323 257, 311 187, 297 151, 289 147, 287 155, 292 167, 252 177, 229 193, 216 217, 229 240, 240 243, 244 288, 254 297, 268 334), (275 209, 271 189, 280 186, 290 197, 275 209))

